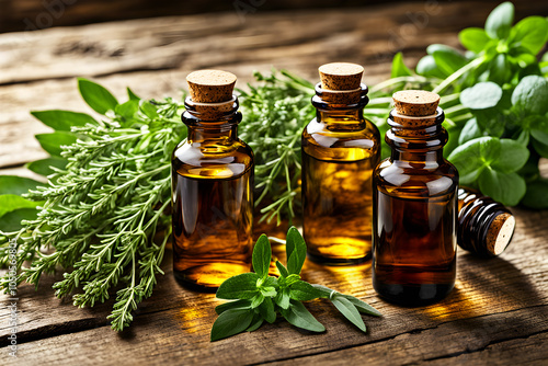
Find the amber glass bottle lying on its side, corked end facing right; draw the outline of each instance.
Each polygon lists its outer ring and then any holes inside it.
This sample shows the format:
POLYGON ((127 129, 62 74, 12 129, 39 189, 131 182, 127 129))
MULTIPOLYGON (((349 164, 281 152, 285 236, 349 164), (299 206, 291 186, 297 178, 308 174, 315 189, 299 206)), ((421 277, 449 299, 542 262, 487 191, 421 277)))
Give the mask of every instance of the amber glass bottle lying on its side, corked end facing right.
POLYGON ((515 218, 504 205, 470 188, 458 190, 457 243, 480 256, 501 254, 510 244, 515 218))

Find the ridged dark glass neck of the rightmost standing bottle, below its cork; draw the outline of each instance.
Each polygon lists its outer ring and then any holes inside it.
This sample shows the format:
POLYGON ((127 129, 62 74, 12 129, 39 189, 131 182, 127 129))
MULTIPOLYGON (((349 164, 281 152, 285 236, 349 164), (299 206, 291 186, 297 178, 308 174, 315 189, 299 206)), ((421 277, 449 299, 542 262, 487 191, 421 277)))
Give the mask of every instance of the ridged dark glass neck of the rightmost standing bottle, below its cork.
POLYGON ((406 116, 398 116, 391 111, 388 117, 388 125, 391 128, 385 137, 392 150, 390 160, 419 164, 442 163, 443 147, 448 139, 447 131, 442 126, 444 117, 443 111, 438 108, 435 116, 424 117, 424 121, 430 119, 424 126, 412 122, 408 124, 406 116))

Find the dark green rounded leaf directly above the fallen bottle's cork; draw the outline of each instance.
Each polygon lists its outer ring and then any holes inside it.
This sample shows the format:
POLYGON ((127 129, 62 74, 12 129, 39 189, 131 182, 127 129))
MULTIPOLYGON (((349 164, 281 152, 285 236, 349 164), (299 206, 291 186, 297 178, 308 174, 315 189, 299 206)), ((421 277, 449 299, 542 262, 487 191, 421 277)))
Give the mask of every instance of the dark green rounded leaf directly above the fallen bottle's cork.
POLYGON ((515 206, 525 195, 525 180, 517 173, 486 169, 479 176, 481 192, 506 206, 515 206))

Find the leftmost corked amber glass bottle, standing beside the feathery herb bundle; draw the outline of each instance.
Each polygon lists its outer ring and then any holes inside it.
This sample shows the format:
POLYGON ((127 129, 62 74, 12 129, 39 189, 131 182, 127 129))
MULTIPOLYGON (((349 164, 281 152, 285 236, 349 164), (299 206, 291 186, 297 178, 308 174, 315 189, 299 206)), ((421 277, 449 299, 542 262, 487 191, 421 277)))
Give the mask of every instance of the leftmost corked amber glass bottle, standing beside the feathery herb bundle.
POLYGON ((189 134, 172 156, 173 272, 190 287, 214 290, 250 271, 253 152, 237 135, 236 77, 203 70, 186 80, 189 134))

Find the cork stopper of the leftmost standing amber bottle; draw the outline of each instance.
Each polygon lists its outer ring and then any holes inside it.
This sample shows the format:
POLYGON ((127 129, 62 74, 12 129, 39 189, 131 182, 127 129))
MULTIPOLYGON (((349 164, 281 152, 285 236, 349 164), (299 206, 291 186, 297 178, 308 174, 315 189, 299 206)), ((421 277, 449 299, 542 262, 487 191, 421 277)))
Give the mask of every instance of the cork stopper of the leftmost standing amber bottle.
POLYGON ((232 100, 236 84, 233 73, 220 70, 199 70, 186 77, 191 99, 195 103, 222 103, 232 100))

